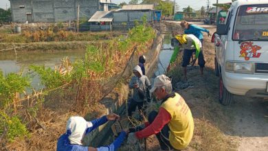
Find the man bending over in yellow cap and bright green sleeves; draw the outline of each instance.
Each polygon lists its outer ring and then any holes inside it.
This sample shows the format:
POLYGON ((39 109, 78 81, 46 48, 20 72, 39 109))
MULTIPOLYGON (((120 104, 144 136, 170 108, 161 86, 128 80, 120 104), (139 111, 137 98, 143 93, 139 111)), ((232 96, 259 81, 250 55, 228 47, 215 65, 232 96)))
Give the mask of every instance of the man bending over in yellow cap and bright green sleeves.
MULTIPOLYGON (((193 34, 178 34, 175 36, 175 40, 179 43, 179 46, 183 47, 183 60, 182 60, 182 67, 183 67, 183 75, 184 79, 187 80, 187 65, 190 64, 190 58, 192 54, 195 53, 195 60, 198 58, 198 65, 200 66, 200 73, 203 76, 203 68, 205 67, 205 60, 202 52, 202 43, 193 34)), ((173 52, 172 57, 170 59, 170 64, 175 62, 177 58, 177 54, 179 53, 179 49, 175 49, 176 51, 173 52)), ((170 66, 169 66, 170 67, 170 66)), ((168 70, 169 70, 168 67, 168 70)))

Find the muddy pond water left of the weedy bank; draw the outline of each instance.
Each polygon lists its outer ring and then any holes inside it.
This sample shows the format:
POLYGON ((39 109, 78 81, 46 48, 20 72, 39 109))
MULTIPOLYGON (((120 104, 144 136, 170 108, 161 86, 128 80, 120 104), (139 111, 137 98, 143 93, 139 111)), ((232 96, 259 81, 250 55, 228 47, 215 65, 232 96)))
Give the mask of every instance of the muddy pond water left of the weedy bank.
MULTIPOLYGON (((0 53, 0 69, 3 75, 23 71, 27 73, 30 65, 45 65, 54 69, 62 58, 68 56, 71 61, 82 58, 85 50, 72 51, 4 51, 0 53)), ((32 87, 41 89, 43 86, 38 77, 32 78, 32 87)))

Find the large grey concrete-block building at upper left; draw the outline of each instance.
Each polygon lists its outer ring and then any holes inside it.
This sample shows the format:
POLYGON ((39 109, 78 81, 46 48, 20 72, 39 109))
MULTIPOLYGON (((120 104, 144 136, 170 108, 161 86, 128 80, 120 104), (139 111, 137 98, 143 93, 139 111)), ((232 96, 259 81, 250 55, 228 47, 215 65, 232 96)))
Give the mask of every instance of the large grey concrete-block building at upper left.
POLYGON ((90 19, 98 10, 109 10, 111 0, 10 0, 12 21, 63 22, 90 19))

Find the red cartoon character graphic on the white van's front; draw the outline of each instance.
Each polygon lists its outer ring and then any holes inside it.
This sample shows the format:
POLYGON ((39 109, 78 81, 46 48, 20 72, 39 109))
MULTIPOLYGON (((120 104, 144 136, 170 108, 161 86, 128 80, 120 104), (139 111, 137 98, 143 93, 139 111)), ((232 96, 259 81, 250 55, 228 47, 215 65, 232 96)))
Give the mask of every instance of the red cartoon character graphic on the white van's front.
POLYGON ((241 51, 239 57, 244 57, 245 60, 249 60, 249 58, 259 58, 261 53, 257 51, 260 50, 262 47, 258 45, 253 45, 252 42, 244 42, 240 45, 241 51))

